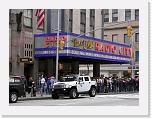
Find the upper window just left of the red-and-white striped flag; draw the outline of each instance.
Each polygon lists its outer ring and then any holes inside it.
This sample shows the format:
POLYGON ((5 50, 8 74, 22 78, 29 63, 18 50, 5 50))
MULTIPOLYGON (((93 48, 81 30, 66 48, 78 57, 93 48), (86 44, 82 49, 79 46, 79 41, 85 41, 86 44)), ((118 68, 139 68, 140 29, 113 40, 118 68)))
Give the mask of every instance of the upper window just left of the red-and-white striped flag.
POLYGON ((32 10, 24 10, 24 25, 27 27, 32 27, 32 10))

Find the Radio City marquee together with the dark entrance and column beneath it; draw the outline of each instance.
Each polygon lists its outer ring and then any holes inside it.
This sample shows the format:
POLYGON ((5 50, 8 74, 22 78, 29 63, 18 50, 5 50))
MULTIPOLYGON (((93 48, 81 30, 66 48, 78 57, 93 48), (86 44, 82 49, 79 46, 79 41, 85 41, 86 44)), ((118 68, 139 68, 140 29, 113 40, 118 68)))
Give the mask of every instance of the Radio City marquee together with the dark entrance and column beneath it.
MULTIPOLYGON (((57 34, 34 35, 35 72, 55 75, 57 34)), ((79 74, 79 64, 93 64, 93 76, 100 76, 100 64, 129 64, 131 45, 80 34, 59 33, 59 75, 79 74)))

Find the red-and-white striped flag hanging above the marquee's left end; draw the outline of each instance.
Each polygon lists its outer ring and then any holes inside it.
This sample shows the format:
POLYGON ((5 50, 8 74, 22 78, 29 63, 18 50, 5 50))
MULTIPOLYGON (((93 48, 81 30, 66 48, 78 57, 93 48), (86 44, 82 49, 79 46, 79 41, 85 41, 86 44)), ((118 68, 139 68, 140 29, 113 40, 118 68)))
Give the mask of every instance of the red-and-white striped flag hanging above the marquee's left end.
POLYGON ((37 9, 36 16, 37 16, 37 27, 39 28, 44 22, 44 9, 37 9))

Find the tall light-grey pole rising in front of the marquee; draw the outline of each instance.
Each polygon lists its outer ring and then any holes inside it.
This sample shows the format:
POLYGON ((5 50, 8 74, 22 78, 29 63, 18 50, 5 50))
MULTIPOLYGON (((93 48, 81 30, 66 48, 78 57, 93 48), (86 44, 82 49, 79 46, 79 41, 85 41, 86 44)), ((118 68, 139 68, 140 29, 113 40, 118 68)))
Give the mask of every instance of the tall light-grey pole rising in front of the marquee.
POLYGON ((56 81, 58 81, 58 62, 59 62, 59 28, 60 28, 60 10, 58 9, 58 32, 57 32, 57 46, 56 46, 56 81))

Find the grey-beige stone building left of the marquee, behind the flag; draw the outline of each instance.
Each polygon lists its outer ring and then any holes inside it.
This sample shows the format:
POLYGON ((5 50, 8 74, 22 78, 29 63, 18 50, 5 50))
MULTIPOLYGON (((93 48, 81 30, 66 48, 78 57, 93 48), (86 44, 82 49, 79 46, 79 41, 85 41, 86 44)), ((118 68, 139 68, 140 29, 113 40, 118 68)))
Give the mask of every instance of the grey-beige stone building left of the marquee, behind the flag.
MULTIPOLYGON (((45 11, 47 18, 47 12, 45 11)), ((47 19, 37 29, 36 10, 9 10, 9 74, 33 75, 34 33, 46 33, 47 19)))

